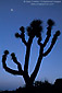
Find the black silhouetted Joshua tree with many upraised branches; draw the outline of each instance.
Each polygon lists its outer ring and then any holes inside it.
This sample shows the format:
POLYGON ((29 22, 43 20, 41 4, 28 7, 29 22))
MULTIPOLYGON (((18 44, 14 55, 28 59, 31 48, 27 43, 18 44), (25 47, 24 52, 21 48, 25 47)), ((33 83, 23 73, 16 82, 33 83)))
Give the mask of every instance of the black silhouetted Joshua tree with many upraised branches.
POLYGON ((55 42, 58 39, 58 36, 60 35, 60 31, 57 31, 55 34, 53 35, 50 47, 48 48, 48 50, 46 53, 44 53, 44 48, 46 47, 46 45, 49 42, 49 38, 51 36, 51 30, 52 30, 52 26, 54 25, 54 22, 52 20, 48 20, 47 37, 44 43, 41 43, 41 32, 42 32, 41 23, 42 22, 40 20, 34 20, 30 23, 30 25, 27 26, 27 28, 26 28, 26 32, 28 35, 27 42, 25 39, 25 28, 23 26, 20 27, 21 34, 18 34, 18 33, 15 34, 15 37, 21 38, 22 42, 24 43, 24 45, 26 46, 24 70, 22 69, 22 65, 17 61, 14 53, 11 54, 11 57, 12 57, 13 61, 17 65, 17 69, 18 69, 17 71, 10 69, 5 63, 9 51, 5 50, 4 55, 2 56, 2 65, 3 65, 4 70, 14 75, 23 75, 27 86, 32 85, 34 83, 35 78, 39 71, 39 67, 40 67, 42 58, 46 57, 51 51, 51 49, 53 48, 53 45, 55 44, 55 42), (28 74, 29 54, 30 54, 30 47, 32 47, 35 36, 38 38, 37 44, 39 46, 39 57, 38 57, 36 67, 29 77, 29 74, 28 74))

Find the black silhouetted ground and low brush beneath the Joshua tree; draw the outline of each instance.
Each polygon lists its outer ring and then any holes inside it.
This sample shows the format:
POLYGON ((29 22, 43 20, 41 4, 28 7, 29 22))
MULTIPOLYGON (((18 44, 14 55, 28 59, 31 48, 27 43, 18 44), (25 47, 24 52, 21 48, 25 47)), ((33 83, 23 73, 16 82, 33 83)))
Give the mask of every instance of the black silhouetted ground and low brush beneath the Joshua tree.
POLYGON ((62 79, 57 79, 54 84, 48 81, 37 81, 33 86, 24 86, 15 91, 2 91, 0 93, 62 93, 62 79))

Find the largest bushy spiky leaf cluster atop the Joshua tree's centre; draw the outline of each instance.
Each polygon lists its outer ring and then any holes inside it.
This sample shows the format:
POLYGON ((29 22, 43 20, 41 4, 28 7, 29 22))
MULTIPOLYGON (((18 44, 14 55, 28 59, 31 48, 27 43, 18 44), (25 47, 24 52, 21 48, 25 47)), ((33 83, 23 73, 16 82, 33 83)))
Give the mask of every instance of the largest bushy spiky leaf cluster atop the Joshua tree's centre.
POLYGON ((42 31, 41 23, 42 22, 40 20, 34 20, 30 23, 30 25, 27 26, 28 36, 40 37, 41 36, 41 31, 42 31))

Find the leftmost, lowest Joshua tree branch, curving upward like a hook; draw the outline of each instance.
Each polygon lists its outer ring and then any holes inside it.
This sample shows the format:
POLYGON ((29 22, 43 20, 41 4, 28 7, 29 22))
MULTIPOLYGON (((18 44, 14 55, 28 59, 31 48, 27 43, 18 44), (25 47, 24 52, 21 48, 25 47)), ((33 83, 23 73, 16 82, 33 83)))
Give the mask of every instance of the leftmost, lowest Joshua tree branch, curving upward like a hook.
MULTIPOLYGON (((5 63, 5 60, 7 60, 7 56, 8 56, 9 51, 5 50, 4 51, 4 55, 2 56, 2 65, 3 65, 3 68, 5 71, 12 73, 12 74, 17 74, 17 75, 23 75, 23 71, 16 71, 16 70, 12 70, 10 69, 7 63, 5 63)), ((20 67, 20 66, 18 66, 20 67)))

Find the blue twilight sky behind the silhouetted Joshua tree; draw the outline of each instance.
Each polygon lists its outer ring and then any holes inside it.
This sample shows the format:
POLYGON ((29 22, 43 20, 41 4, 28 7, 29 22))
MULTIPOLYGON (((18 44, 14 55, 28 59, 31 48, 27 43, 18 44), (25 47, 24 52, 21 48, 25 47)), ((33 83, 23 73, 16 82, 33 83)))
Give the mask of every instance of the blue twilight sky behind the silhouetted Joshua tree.
MULTIPOLYGON (((35 19, 42 20, 42 43, 46 37, 48 19, 52 19, 55 22, 52 28, 52 36, 58 30, 62 32, 62 2, 53 5, 30 5, 23 1, 24 0, 0 0, 0 90, 15 90, 24 85, 23 78, 5 72, 1 62, 3 51, 8 49, 10 54, 15 53, 16 58, 24 68, 26 47, 20 38, 15 38, 14 36, 16 32, 20 33, 18 28, 21 26, 28 26, 35 19)), ((45 51, 48 49, 51 39, 45 48, 45 51)), ((29 74, 34 70, 38 58, 39 47, 37 45, 37 38, 34 39, 30 50, 29 74)), ((8 56, 7 65, 10 68, 17 69, 16 65, 11 60, 10 55, 8 56)), ((62 34, 58 38, 52 51, 42 59, 36 80, 48 80, 53 83, 58 78, 62 78, 62 34)))

